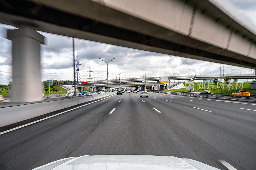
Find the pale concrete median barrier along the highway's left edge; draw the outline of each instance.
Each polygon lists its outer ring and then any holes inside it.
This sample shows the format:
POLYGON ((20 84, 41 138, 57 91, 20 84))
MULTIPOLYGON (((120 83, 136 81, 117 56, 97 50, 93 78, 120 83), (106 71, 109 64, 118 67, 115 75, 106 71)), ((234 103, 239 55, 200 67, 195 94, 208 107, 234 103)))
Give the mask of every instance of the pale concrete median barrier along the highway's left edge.
POLYGON ((116 94, 116 92, 97 94, 92 96, 74 96, 52 98, 29 103, 7 103, 0 105, 0 127, 38 117, 53 111, 65 109, 77 104, 93 101, 116 94))

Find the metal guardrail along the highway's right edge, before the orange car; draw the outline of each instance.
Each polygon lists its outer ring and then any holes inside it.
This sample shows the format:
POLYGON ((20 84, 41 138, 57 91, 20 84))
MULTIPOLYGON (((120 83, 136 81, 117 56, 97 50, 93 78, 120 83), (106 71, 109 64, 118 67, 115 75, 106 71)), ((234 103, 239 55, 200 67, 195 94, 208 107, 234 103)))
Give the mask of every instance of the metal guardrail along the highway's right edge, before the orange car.
POLYGON ((256 96, 250 96, 250 98, 239 98, 240 96, 236 97, 236 96, 232 96, 232 95, 222 95, 222 94, 201 95, 200 93, 172 92, 172 91, 149 91, 149 92, 165 93, 165 94, 172 94, 172 95, 182 95, 182 96, 205 97, 205 98, 213 98, 213 99, 236 100, 236 101, 255 102, 256 103, 256 96))

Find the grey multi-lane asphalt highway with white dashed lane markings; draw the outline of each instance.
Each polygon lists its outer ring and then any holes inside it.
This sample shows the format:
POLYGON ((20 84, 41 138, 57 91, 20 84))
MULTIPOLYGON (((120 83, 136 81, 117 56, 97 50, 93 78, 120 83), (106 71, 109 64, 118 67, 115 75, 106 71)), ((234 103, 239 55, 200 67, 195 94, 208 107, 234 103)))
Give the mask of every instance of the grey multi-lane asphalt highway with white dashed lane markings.
POLYGON ((81 155, 176 156, 256 169, 256 104, 125 93, 0 135, 0 169, 81 155))

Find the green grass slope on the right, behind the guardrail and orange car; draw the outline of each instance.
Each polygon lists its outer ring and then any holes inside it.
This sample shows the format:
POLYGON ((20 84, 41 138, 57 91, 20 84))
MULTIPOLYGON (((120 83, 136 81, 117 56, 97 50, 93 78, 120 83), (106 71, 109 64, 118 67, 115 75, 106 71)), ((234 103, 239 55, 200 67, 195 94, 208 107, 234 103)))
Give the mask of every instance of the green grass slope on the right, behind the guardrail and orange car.
MULTIPOLYGON (((233 83, 233 82, 231 82, 231 83, 233 83)), ((184 84, 184 86, 185 86, 185 82, 183 82, 183 84, 184 84)), ((209 85, 209 91, 211 91, 211 92, 213 92, 213 93, 221 93, 221 89, 216 89, 217 88, 217 85, 216 84, 209 84, 209 83, 207 83, 207 85, 205 85, 205 83, 203 83, 204 84, 204 88, 202 88, 202 83, 197 83, 197 92, 202 92, 203 91, 203 89, 204 90, 206 90, 207 88, 208 88, 208 85, 209 85), (212 85, 213 85, 213 89, 211 89, 212 88, 212 85)), ((222 83, 222 84, 224 84, 224 89, 222 90, 223 91, 223 93, 222 94, 228 94, 228 95, 230 95, 231 93, 233 93, 234 91, 236 91, 236 90, 241 90, 241 87, 239 88, 239 86, 241 85, 240 83, 238 83, 238 87, 237 87, 237 89, 236 89, 236 83, 233 83, 233 89, 227 89, 226 90, 226 88, 227 88, 227 84, 226 83, 222 83)), ((194 87, 196 87, 196 83, 194 83, 194 87)), ((196 89, 196 88, 195 88, 196 89)), ((244 82, 243 83, 243 90, 245 90, 245 91, 248 91, 248 92, 250 92, 250 93, 252 93, 252 94, 255 94, 256 93, 256 90, 255 89, 251 89, 251 83, 249 83, 249 82, 244 82)), ((169 90, 166 90, 166 91, 169 91, 169 90)), ((172 89, 172 90, 170 90, 170 91, 175 91, 175 89, 172 89)), ((180 91, 180 92, 185 92, 185 91, 187 91, 187 89, 186 88, 182 88, 182 89, 176 89, 176 91, 180 91)), ((196 91, 196 90, 195 90, 196 91)), ((195 92, 194 91, 194 92, 195 92)))

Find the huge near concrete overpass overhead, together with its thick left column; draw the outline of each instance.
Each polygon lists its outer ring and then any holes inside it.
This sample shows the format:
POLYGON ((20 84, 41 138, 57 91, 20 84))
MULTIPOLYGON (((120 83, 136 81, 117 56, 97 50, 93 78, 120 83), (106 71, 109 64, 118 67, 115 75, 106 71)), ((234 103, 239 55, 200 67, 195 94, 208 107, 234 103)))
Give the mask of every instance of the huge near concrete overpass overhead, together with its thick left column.
POLYGON ((44 37, 34 30, 256 68, 255 26, 218 0, 1 0, 0 23, 19 28, 8 31, 16 102, 41 99, 44 37))

